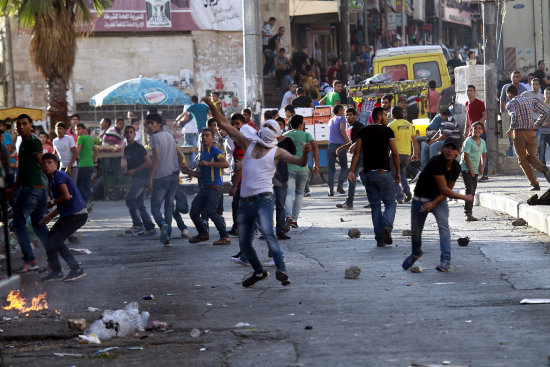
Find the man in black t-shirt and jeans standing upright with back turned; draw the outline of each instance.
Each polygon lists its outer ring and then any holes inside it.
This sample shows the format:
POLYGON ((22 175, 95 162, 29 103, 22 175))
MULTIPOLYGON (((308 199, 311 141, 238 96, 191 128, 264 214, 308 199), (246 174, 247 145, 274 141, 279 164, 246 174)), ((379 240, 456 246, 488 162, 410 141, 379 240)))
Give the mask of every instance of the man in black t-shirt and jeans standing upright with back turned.
POLYGON ((372 111, 374 124, 365 126, 359 131, 355 142, 355 152, 348 180, 355 182, 355 170, 359 163, 361 149, 363 152, 363 169, 365 170, 365 184, 367 198, 371 206, 372 224, 374 226, 374 238, 378 247, 391 245, 391 231, 395 219, 395 183, 401 182, 399 174, 399 153, 395 145, 393 130, 387 127, 388 115, 382 107, 376 107, 372 111), (390 169, 391 151, 393 163, 396 167, 395 177, 392 179, 390 169), (382 202, 385 210, 382 212, 382 202))

